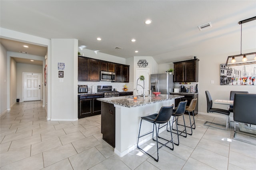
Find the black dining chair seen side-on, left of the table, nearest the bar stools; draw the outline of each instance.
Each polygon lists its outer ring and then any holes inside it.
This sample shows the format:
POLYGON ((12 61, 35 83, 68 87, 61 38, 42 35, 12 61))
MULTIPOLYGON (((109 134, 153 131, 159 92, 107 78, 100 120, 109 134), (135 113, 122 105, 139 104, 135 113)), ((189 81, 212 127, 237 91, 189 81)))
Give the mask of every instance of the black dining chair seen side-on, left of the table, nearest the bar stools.
MULTIPOLYGON (((228 125, 229 125, 229 120, 230 120, 230 117, 229 117, 230 111, 225 110, 225 109, 212 108, 212 97, 211 97, 209 91, 205 91, 205 94, 206 94, 206 99, 207 99, 207 113, 218 113, 220 115, 226 116, 226 128, 225 129, 224 128, 219 128, 219 129, 227 130, 228 125)), ((225 125, 221 125, 219 123, 213 123, 213 122, 208 122, 208 121, 206 121, 204 123, 205 126, 218 128, 218 127, 215 127, 215 126, 211 126, 211 124, 225 126, 225 125), (210 123, 210 125, 208 125, 207 123, 210 123)))

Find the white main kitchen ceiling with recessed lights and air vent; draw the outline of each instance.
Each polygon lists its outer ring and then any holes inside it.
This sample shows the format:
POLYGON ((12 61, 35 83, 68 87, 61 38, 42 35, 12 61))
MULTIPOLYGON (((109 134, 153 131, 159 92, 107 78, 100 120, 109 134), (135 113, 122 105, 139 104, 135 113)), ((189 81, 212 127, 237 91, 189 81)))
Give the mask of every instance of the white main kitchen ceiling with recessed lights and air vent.
POLYGON ((238 22, 256 16, 256 1, 1 0, 0 14, 2 28, 48 39, 74 38, 86 49, 124 58, 153 56, 157 63, 166 63, 177 49, 239 35, 238 22), (146 19, 152 24, 144 24, 146 19), (208 22, 212 28, 198 29, 208 22))

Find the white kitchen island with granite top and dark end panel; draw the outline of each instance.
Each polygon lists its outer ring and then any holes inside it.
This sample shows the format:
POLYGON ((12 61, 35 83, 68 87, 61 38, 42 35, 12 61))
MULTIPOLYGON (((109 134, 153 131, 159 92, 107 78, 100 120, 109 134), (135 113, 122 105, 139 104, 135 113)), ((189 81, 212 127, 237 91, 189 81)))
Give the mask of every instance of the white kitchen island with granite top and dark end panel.
MULTIPOLYGON (((102 101, 101 130, 103 139, 114 147, 114 152, 122 157, 137 147, 140 117, 158 113, 162 106, 174 104, 181 95, 159 95, 145 99, 133 99, 133 96, 100 98, 102 101)), ((171 118, 172 119, 172 118, 171 118)), ((152 123, 143 122, 141 132, 152 130, 152 123)), ((160 129, 160 132, 165 129, 160 129)), ((141 138, 144 143, 152 138, 141 138)))

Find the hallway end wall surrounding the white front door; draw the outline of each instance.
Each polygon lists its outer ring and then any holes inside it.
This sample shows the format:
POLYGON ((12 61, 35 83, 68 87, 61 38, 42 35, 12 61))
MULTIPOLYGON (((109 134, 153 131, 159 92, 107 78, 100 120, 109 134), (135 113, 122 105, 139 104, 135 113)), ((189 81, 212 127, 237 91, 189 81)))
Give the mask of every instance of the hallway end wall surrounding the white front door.
POLYGON ((42 65, 34 65, 34 64, 26 64, 26 63, 16 63, 17 67, 17 99, 20 99, 20 101, 23 101, 23 73, 40 73, 41 74, 41 100, 43 99, 43 82, 44 82, 44 74, 42 72, 43 66, 42 65))

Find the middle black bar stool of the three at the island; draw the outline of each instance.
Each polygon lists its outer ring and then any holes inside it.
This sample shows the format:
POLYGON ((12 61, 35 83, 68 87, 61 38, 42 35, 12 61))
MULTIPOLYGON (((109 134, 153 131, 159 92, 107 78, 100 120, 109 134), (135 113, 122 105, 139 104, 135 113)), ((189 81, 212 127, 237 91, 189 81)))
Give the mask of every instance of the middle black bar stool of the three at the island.
MULTIPOLYGON (((179 146, 180 144, 180 139, 179 139, 179 136, 183 136, 183 137, 187 137, 187 130, 186 130, 186 124, 185 124, 185 119, 184 119, 184 113, 185 113, 185 109, 186 109, 186 105, 187 105, 187 100, 186 101, 181 101, 179 104, 178 104, 178 107, 177 109, 173 109, 173 113, 172 113, 172 116, 174 117, 173 121, 172 121, 172 127, 170 125, 170 128, 172 128, 172 130, 176 130, 177 132, 173 132, 175 134, 177 134, 178 136, 178 143, 175 143, 173 142, 174 144, 176 144, 177 146, 179 146), (183 117, 183 122, 184 122, 184 129, 183 130, 178 130, 178 117, 182 116, 183 117), (177 129, 174 129, 173 128, 173 123, 176 122, 176 128, 177 129), (179 133, 180 132, 180 133, 179 133), (186 135, 182 135, 182 133, 185 133, 186 135)), ((170 122, 169 122, 170 123, 170 122)), ((167 126, 168 127, 168 126, 167 126)), ((169 131, 169 130, 167 130, 169 131)))

